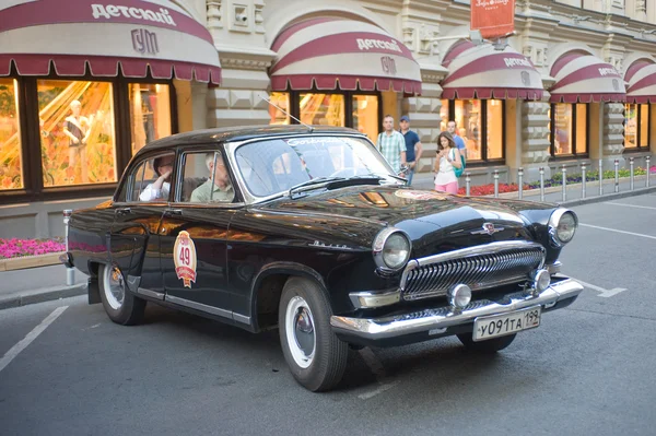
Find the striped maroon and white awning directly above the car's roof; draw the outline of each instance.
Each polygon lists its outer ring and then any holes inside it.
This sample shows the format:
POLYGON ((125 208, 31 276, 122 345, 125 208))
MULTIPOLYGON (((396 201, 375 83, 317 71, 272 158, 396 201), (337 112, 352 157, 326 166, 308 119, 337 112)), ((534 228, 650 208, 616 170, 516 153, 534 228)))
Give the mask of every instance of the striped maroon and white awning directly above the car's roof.
POLYGON ((370 23, 338 17, 282 31, 271 49, 273 91, 362 90, 421 93, 421 70, 400 40, 370 23))

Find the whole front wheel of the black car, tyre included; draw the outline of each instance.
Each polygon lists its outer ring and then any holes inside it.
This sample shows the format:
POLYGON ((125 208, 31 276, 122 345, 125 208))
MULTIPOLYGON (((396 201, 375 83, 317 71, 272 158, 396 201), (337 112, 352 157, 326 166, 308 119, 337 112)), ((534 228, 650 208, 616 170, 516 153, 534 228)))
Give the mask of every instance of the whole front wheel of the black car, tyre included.
POLYGON ((280 298, 280 343, 296 381, 312 391, 329 390, 347 367, 349 346, 330 328, 328 297, 314 282, 292 278, 280 298))

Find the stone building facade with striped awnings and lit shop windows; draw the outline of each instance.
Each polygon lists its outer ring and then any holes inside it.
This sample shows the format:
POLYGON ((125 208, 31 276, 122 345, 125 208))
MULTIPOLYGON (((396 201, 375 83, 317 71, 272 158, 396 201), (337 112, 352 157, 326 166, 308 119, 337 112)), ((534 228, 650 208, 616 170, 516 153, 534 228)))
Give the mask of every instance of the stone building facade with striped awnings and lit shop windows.
POLYGON ((656 4, 644 0, 517 0, 515 34, 494 42, 470 34, 468 0, 30 9, 58 2, 0 10, 0 237, 60 235, 61 210, 106 199, 134 151, 192 129, 297 118, 375 141, 385 114, 409 115, 430 172, 453 119, 475 182, 644 166, 656 148, 656 4), (33 14, 38 32, 21 24, 33 14))

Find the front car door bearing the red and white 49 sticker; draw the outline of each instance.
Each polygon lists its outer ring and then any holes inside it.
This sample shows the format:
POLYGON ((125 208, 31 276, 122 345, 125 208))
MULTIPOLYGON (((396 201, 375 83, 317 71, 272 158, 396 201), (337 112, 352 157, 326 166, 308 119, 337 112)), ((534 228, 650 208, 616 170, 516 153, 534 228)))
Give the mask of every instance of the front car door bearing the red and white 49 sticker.
POLYGON ((191 192, 208 182, 207 153, 183 154, 184 173, 175 192, 177 201, 162 217, 160 249, 165 299, 232 320, 234 305, 227 290, 226 269, 227 231, 239 205, 191 201, 191 192))

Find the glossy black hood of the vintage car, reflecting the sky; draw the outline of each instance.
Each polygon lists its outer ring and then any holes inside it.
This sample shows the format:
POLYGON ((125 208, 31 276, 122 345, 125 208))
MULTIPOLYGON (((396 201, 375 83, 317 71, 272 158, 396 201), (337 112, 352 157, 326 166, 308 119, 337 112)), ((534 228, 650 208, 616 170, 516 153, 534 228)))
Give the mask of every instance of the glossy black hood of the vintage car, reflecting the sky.
MULTIPOLYGON (((384 226, 406 232, 413 257, 431 256, 497 240, 531 240, 530 223, 511 208, 490 201, 449 196, 430 190, 390 186, 362 186, 280 199, 262 210, 320 220, 358 239, 371 239, 384 226), (485 226, 483 226, 485 224, 485 226), (490 234, 485 231, 493 232, 490 234), (366 228, 366 231, 365 231, 366 228), (345 232, 348 229, 348 232, 345 232)), ((355 240, 351 240, 354 243, 355 240)), ((337 241, 343 244, 343 241, 337 241)), ((370 246, 371 240, 359 240, 370 246)))

